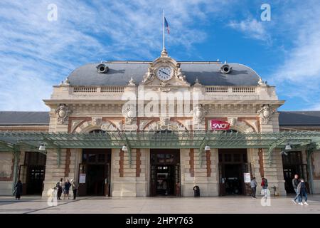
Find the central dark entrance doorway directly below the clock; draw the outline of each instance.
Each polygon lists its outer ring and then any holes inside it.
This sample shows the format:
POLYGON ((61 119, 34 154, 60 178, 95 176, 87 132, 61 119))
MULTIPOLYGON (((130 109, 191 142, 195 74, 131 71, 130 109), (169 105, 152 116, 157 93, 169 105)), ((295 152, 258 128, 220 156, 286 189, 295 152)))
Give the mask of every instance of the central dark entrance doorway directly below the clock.
POLYGON ((151 150, 150 196, 181 196, 180 150, 151 150))

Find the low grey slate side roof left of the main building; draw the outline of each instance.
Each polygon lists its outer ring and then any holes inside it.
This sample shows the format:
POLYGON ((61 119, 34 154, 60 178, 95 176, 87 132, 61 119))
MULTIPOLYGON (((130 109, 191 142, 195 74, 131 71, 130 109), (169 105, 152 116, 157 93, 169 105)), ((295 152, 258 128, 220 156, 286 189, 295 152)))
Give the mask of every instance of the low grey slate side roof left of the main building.
POLYGON ((49 113, 2 111, 0 125, 49 125, 49 113))

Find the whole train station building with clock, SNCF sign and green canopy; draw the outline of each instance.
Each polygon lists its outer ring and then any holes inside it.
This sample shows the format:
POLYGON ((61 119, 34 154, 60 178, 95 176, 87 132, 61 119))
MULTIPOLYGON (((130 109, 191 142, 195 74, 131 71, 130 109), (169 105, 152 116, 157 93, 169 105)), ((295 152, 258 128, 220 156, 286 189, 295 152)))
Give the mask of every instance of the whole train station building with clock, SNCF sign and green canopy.
POLYGON ((276 88, 240 63, 165 49, 88 63, 43 102, 48 112, 0 112, 0 195, 21 180, 46 197, 60 178, 80 196, 250 195, 252 177, 286 195, 296 173, 320 193, 320 111, 279 112, 276 88))

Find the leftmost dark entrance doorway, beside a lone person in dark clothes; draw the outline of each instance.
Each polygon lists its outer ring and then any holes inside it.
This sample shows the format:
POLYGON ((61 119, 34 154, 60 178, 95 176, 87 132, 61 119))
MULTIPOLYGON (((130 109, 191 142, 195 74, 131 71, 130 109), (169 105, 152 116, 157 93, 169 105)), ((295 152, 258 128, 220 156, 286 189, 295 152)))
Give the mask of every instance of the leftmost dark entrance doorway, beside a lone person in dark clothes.
POLYGON ((46 172, 46 155, 26 152, 24 164, 20 165, 18 179, 21 180, 23 195, 41 195, 46 172))

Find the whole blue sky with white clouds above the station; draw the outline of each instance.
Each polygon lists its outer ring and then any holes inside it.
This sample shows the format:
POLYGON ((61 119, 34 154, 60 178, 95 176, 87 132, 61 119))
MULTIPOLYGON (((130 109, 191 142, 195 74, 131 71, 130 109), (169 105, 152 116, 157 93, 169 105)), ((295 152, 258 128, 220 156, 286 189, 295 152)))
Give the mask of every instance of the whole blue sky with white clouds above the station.
POLYGON ((166 12, 169 55, 228 61, 277 86, 280 110, 320 110, 319 1, 0 1, 0 110, 48 110, 78 66, 101 60, 152 61, 166 12), (262 21, 261 5, 271 6, 262 21), (48 5, 58 7, 48 21, 48 5))

